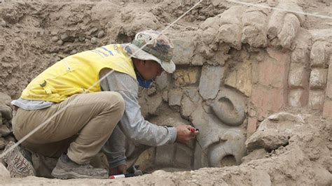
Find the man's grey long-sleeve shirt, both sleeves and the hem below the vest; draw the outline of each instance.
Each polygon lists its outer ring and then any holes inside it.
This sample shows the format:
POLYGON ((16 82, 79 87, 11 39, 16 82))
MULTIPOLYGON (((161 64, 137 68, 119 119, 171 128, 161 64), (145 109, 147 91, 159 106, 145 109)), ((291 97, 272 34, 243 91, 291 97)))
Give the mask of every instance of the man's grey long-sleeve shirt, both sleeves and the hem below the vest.
MULTIPOLYGON (((106 71, 103 72, 107 73, 106 71)), ((102 74, 101 74, 102 75, 102 74)), ((124 136, 144 145, 159 146, 174 143, 177 131, 174 127, 160 127, 144 120, 138 103, 137 80, 125 73, 114 71, 100 83, 103 91, 118 92, 125 101, 125 113, 102 150, 111 167, 125 164, 124 136)), ((18 99, 12 104, 25 110, 47 108, 53 103, 18 99)))

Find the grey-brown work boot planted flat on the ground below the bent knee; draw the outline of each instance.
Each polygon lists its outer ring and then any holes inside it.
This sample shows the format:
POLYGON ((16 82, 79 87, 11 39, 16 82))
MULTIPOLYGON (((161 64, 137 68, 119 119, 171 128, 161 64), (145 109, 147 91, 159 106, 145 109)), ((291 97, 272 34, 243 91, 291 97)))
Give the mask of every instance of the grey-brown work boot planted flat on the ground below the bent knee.
POLYGON ((109 178, 109 173, 104 169, 92 167, 90 164, 76 164, 67 155, 61 155, 57 166, 52 171, 52 176, 58 179, 71 178, 109 178))

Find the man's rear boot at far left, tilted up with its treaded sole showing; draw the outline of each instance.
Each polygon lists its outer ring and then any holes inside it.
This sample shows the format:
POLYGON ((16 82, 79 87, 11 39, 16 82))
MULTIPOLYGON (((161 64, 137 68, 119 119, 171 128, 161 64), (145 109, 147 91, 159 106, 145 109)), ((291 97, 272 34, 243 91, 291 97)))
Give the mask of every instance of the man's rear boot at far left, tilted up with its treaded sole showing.
MULTIPOLYGON (((10 141, 4 152, 6 152, 6 150, 11 148, 13 145, 15 145, 15 143, 10 141)), ((24 155, 29 155, 29 152, 17 146, 10 152, 7 152, 4 156, 4 162, 7 164, 7 170, 11 174, 11 178, 24 178, 36 175, 32 163, 29 162, 24 155)))

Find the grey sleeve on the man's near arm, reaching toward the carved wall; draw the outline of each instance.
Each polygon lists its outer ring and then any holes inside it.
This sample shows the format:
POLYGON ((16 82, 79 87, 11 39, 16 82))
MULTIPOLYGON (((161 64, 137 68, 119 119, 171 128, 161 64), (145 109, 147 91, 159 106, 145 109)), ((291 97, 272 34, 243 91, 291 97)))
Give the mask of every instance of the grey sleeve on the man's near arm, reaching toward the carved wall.
POLYGON ((160 127, 144 120, 138 102, 137 80, 125 73, 114 71, 100 83, 103 91, 118 92, 125 101, 125 113, 119 127, 130 140, 150 146, 174 143, 177 131, 174 127, 160 127))

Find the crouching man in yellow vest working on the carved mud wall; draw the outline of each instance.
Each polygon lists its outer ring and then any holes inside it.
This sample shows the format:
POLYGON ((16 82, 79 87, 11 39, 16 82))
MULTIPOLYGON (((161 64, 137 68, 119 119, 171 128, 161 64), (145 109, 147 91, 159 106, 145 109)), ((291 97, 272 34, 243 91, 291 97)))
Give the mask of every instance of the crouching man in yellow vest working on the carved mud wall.
POLYGON ((190 125, 161 127, 141 115, 138 87, 147 88, 162 71, 173 73, 172 53, 169 38, 148 30, 139 32, 132 43, 71 55, 39 74, 20 99, 12 102, 18 108, 13 132, 20 140, 46 124, 22 142, 21 150, 16 148, 6 155, 11 176, 35 175, 27 161, 29 152, 34 152, 57 158, 52 170, 55 178, 108 178, 108 171, 89 164, 100 150, 113 172, 124 173, 124 153, 114 152, 124 148, 119 147, 123 138, 118 133, 111 135, 114 129, 135 143, 149 146, 195 138, 198 131, 191 133, 190 125), (104 75, 106 78, 97 83, 104 75))

